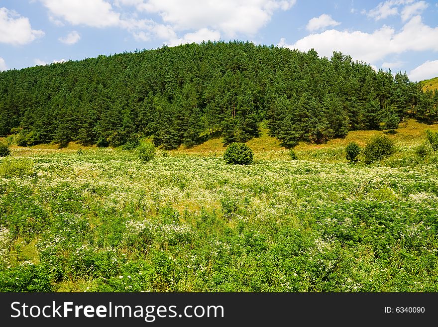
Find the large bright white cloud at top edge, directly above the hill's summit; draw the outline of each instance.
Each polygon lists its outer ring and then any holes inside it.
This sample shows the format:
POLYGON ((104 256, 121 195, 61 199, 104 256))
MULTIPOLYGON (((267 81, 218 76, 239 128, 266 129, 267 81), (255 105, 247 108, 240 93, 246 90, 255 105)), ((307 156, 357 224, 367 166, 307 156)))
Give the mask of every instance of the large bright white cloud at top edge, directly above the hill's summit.
POLYGON ((208 28, 234 37, 255 35, 275 10, 288 10, 294 4, 295 0, 147 0, 137 8, 160 15, 176 31, 208 28))

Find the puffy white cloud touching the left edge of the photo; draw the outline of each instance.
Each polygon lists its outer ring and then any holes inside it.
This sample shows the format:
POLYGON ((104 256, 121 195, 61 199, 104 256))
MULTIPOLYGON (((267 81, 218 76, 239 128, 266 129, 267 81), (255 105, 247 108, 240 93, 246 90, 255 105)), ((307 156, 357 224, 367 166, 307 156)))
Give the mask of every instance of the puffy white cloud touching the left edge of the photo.
POLYGON ((0 8, 0 43, 22 45, 43 35, 43 31, 32 29, 29 18, 13 10, 0 8))

